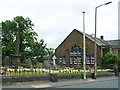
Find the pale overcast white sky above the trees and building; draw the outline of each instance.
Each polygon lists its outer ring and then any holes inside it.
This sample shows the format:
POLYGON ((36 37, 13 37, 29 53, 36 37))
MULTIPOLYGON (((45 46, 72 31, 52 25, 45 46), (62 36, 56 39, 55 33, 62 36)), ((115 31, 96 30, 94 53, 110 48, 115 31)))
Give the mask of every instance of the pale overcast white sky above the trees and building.
MULTIPOLYGON (((13 20, 16 16, 29 17, 38 34, 48 48, 58 45, 73 31, 83 31, 85 11, 85 32, 94 34, 95 7, 110 0, 0 0, 0 22, 13 20)), ((105 40, 118 39, 118 2, 97 9, 97 37, 105 40)))

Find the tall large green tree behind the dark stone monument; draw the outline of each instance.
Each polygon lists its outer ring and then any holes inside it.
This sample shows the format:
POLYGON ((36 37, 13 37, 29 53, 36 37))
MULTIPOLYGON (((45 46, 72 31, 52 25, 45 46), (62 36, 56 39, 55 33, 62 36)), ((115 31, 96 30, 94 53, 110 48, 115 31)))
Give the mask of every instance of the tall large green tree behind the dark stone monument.
POLYGON ((5 56, 12 57, 15 54, 16 34, 20 36, 20 54, 26 58, 26 48, 32 46, 37 40, 37 33, 33 31, 34 24, 29 18, 15 17, 12 21, 2 22, 2 52, 5 56))

